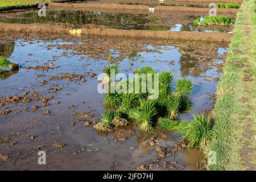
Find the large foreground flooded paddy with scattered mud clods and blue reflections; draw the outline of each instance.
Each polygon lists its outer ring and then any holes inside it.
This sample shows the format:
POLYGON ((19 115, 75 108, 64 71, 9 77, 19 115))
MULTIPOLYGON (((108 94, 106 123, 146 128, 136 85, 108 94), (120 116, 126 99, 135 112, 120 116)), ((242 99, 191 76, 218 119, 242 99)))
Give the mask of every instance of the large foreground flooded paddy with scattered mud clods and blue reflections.
POLYGON ((185 150, 177 133, 144 133, 131 124, 104 134, 92 126, 104 113, 97 76, 109 63, 126 75, 151 66, 175 80, 191 79, 192 109, 180 120, 211 109, 227 49, 206 45, 95 37, 1 41, 0 56, 20 68, 0 72, 0 169, 203 169, 203 154, 185 150), (40 150, 46 165, 38 164, 40 150))

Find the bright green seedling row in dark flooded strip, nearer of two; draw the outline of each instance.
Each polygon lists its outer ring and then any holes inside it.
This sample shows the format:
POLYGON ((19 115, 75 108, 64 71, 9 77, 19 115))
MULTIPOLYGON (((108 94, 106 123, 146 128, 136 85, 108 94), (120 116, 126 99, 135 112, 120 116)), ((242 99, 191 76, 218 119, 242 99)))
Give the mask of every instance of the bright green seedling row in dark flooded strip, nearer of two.
POLYGON ((233 19, 230 16, 205 16, 204 18, 197 18, 194 21, 195 26, 199 25, 221 25, 230 26, 233 19))

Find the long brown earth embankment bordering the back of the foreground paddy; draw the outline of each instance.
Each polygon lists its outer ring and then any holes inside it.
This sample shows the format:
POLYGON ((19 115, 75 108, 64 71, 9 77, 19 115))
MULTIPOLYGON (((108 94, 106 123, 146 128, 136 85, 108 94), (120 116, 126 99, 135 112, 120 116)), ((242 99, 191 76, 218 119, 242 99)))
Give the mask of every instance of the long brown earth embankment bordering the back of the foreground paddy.
MULTIPOLYGON (((16 24, 0 23, 0 32, 22 32, 42 34, 69 34, 73 26, 71 24, 16 24)), ((207 42, 229 42, 232 34, 221 32, 168 32, 150 30, 117 30, 106 27, 95 27, 86 25, 81 28, 82 35, 98 36, 123 36, 141 39, 161 40, 203 40, 207 42)))

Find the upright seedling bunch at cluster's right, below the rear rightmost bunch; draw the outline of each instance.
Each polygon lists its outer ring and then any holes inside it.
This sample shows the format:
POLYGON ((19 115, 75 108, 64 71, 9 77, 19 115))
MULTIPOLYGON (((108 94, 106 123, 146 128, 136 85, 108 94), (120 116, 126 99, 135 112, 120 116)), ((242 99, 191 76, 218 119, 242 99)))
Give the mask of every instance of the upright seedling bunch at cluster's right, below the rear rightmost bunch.
POLYGON ((178 118, 178 111, 180 107, 180 97, 175 96, 168 96, 164 103, 167 108, 167 115, 170 119, 177 119, 178 118))

